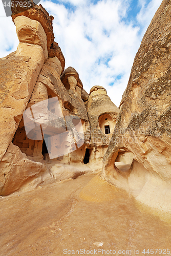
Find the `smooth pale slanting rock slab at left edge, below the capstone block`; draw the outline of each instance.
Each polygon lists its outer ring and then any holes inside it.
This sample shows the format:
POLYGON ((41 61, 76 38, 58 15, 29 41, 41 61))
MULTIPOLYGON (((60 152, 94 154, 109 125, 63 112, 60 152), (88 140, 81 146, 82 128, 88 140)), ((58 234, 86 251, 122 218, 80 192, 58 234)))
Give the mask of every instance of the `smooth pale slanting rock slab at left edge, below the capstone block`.
POLYGON ((19 43, 16 52, 0 59, 0 160, 22 119, 44 59, 42 47, 27 43, 19 43))

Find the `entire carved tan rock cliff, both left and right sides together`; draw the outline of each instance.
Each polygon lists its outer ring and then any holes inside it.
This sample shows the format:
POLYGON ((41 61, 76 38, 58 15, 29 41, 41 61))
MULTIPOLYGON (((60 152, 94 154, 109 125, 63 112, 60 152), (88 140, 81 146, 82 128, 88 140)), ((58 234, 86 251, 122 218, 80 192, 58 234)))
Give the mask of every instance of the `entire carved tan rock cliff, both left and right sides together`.
POLYGON ((32 5, 13 10, 19 45, 0 59, 0 195, 101 172, 170 212, 170 1, 143 37, 120 109, 103 87, 88 94, 78 72, 65 70, 53 17, 32 5))

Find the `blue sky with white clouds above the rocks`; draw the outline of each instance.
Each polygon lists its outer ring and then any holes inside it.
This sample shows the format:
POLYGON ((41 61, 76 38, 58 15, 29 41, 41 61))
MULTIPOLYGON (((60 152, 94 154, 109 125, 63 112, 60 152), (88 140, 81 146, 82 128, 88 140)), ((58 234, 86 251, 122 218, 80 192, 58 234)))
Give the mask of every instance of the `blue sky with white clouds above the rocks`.
MULTIPOLYGON (((162 0, 63 0, 39 3, 54 16, 53 29, 66 68, 79 73, 89 93, 103 86, 119 106, 142 37, 162 0)), ((1 2, 0 2, 1 3, 1 2)), ((11 17, 0 4, 0 57, 16 50, 11 17), (3 17, 4 16, 4 17, 3 17)))

